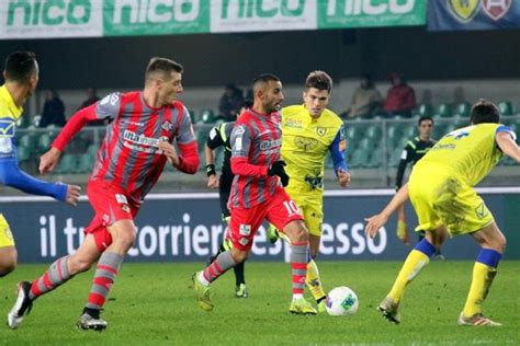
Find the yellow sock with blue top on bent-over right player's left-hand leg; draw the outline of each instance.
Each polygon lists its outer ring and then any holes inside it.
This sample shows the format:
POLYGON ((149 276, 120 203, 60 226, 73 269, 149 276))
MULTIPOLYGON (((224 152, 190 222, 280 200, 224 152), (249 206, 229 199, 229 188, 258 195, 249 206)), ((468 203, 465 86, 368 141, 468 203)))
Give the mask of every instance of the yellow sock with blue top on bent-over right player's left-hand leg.
POLYGON ((436 252, 436 247, 427 240, 423 239, 410 251, 408 257, 406 257, 403 267, 400 268, 399 275, 392 287, 392 290, 387 297, 398 304, 405 295, 406 286, 419 274, 419 272, 429 262, 430 257, 436 252))

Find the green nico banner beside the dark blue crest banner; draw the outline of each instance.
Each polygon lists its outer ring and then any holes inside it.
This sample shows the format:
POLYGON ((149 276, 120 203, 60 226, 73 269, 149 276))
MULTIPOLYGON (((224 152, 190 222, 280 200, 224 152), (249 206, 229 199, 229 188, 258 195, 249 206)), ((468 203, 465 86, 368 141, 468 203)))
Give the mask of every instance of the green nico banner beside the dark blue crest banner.
POLYGON ((318 27, 423 25, 426 10, 423 0, 318 0, 318 27))

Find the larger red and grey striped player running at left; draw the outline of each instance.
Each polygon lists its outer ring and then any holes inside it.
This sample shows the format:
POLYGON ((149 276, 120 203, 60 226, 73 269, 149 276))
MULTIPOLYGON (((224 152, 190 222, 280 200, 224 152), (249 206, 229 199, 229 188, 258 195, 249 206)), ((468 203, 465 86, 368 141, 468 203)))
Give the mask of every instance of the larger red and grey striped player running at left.
POLYGON ((199 169, 191 120, 184 105, 176 100, 182 92, 182 66, 176 61, 152 58, 143 91, 112 93, 79 111, 53 142, 53 148, 42 157, 39 171, 52 171, 66 145, 88 122, 111 120, 88 182, 89 201, 95 216, 84 231, 87 237, 75 254, 57 260, 33 282, 22 282, 14 311, 11 311, 18 316, 18 325, 34 299, 89 269, 98 261, 88 302, 77 325, 84 330, 106 327, 100 310, 134 243, 134 218, 146 194, 167 162, 189 174, 199 169))

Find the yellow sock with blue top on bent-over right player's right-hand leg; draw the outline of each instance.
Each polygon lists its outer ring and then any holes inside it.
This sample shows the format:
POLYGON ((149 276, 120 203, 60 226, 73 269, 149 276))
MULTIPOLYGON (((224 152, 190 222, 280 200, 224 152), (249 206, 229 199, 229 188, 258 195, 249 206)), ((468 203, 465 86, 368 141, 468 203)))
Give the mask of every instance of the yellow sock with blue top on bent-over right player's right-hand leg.
POLYGON ((464 305, 463 315, 474 316, 482 312, 482 302, 486 299, 493 279, 497 275, 497 266, 501 254, 491 249, 483 249, 473 267, 472 286, 464 305))

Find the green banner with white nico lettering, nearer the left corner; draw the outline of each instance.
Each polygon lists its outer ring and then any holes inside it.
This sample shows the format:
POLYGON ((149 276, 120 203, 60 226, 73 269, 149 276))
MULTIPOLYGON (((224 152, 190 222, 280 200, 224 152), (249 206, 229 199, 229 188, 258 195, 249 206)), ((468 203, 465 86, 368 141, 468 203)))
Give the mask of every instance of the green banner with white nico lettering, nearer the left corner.
POLYGON ((203 0, 104 0, 104 36, 207 33, 210 10, 203 0))

